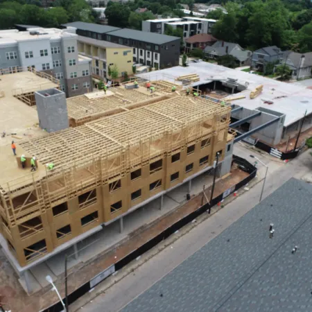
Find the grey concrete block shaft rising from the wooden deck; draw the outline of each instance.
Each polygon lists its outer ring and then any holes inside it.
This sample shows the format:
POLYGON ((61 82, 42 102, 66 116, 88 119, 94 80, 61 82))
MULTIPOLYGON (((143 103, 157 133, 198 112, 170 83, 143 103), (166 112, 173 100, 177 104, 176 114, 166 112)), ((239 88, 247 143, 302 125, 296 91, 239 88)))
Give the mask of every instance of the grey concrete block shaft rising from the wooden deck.
POLYGON ((66 95, 58 89, 35 92, 40 128, 55 132, 69 128, 66 95))

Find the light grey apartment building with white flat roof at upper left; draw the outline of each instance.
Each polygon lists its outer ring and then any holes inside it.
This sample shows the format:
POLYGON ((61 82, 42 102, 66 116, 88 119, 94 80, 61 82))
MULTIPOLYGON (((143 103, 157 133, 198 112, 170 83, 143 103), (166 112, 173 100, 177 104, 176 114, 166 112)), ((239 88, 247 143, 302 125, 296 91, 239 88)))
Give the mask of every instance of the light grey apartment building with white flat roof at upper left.
POLYGON ((33 67, 60 80, 67 97, 92 91, 91 59, 78 55, 71 29, 28 28, 0 31, 0 69, 33 67))

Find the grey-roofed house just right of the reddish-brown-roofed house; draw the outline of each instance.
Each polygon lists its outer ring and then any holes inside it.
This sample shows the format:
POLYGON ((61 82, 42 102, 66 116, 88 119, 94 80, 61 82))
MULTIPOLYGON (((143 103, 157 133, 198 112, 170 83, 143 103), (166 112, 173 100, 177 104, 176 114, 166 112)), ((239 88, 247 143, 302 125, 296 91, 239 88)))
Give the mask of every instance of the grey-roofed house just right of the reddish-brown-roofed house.
POLYGON ((211 59, 217 59, 224 55, 232 55, 236 58, 239 66, 248 66, 251 64, 252 52, 232 42, 217 41, 212 46, 206 46, 204 53, 207 58, 211 59))

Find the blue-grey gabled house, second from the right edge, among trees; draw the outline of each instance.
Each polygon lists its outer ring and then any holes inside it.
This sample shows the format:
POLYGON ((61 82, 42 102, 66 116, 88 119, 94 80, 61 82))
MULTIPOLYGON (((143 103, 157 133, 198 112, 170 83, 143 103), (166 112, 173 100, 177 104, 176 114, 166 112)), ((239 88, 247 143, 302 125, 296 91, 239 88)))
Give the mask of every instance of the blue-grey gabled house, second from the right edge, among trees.
POLYGON ((268 63, 278 64, 284 57, 284 52, 277 46, 266 46, 252 53, 252 68, 265 72, 268 63))

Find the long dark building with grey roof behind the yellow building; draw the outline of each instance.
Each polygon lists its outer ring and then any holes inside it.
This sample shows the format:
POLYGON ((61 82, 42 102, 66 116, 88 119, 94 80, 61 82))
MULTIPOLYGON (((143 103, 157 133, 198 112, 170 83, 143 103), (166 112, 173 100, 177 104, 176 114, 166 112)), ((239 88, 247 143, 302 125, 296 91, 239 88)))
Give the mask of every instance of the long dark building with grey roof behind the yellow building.
POLYGON ((74 21, 63 26, 76 28, 76 33, 83 37, 130 46, 135 64, 156 68, 172 67, 179 64, 180 37, 82 21, 74 21))

